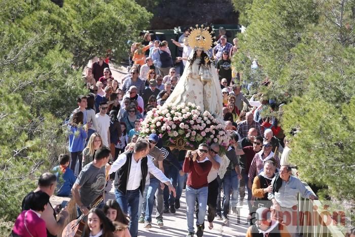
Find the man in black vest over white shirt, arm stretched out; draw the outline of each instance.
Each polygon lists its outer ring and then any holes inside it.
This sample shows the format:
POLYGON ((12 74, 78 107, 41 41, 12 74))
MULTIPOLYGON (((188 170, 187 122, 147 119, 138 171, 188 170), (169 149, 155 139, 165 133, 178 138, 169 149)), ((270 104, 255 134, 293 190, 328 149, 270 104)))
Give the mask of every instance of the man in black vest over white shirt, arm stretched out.
POLYGON ((117 172, 114 182, 116 200, 122 211, 131 218, 129 232, 132 237, 138 234, 139 191, 143 195, 148 172, 166 184, 169 191, 176 195, 170 180, 154 165, 152 159, 147 157, 149 151, 150 144, 146 140, 137 141, 133 151, 121 154, 109 172, 117 172))

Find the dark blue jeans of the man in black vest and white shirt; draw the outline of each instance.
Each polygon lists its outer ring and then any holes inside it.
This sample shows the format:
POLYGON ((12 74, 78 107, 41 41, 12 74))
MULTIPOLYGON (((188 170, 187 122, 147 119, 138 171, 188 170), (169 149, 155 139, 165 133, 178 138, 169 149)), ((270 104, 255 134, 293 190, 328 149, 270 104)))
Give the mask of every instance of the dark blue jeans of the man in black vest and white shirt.
POLYGON ((132 237, 138 235, 138 205, 139 205, 139 189, 127 190, 126 194, 115 189, 115 196, 122 212, 129 215, 129 232, 132 237))

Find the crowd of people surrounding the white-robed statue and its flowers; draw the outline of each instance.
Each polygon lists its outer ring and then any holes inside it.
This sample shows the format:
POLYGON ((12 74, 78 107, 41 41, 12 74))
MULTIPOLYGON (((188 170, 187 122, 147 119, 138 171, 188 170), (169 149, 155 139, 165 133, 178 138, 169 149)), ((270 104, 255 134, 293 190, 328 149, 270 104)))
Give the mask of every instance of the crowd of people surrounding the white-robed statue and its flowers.
POLYGON ((275 117, 264 116, 278 108, 277 102, 262 94, 247 99, 242 93, 247 86, 231 65, 238 39, 232 40, 234 45, 228 43, 224 28, 209 57, 220 77, 230 141, 225 154, 220 154, 218 143, 184 151, 163 146, 155 133, 139 137, 147 112, 163 105, 180 85, 181 69, 192 50, 186 39, 189 33, 187 28, 178 41, 173 40, 181 53, 176 60, 167 42, 146 33, 131 47, 133 65, 122 82, 113 78, 102 57, 87 67, 83 80, 90 93, 78 96, 78 107, 70 115, 68 154, 61 154, 53 174, 43 174, 38 188, 24 198, 13 236, 57 235, 68 212, 51 206, 49 197, 56 192, 72 195, 78 216, 87 216, 85 236, 135 237, 138 223, 144 228, 154 224, 154 205, 156 224, 163 226, 163 215, 180 209, 184 189, 187 236, 195 234, 194 214, 198 237, 203 236, 206 213, 209 229, 215 218, 227 224, 228 215, 243 205, 245 192, 251 224, 246 236, 295 236, 297 225, 288 225, 280 235, 282 220, 275 213, 292 212, 298 193, 317 197, 292 175, 296 166, 289 162, 291 135, 285 136, 275 117), (92 208, 110 179, 115 200, 92 208))

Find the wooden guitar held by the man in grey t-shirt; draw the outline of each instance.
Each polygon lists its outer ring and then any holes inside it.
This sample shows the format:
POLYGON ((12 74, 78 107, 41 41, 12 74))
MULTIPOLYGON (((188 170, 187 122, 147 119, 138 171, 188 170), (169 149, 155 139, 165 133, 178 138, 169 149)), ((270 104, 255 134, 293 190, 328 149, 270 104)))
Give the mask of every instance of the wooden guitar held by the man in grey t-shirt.
MULTIPOLYGON (((100 195, 98 196, 90 205, 90 209, 96 208, 101 201, 103 201, 103 196, 100 195)), ((65 228, 63 229, 62 232, 62 237, 81 237, 83 234, 83 230, 85 227, 85 222, 84 222, 84 214, 81 214, 81 216, 73 221, 70 221, 65 228)))

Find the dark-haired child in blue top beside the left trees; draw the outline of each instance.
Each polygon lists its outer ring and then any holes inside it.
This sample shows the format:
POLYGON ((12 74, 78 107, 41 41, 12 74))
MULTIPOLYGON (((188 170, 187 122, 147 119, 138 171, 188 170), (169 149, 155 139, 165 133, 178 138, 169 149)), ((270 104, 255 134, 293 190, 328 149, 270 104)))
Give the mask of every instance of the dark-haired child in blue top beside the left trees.
POLYGON ((74 172, 68 168, 70 157, 67 154, 60 154, 58 157, 59 165, 53 168, 57 177, 57 196, 67 197, 70 195, 77 177, 74 172))

